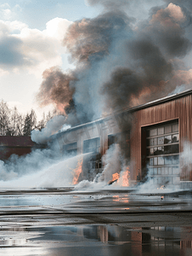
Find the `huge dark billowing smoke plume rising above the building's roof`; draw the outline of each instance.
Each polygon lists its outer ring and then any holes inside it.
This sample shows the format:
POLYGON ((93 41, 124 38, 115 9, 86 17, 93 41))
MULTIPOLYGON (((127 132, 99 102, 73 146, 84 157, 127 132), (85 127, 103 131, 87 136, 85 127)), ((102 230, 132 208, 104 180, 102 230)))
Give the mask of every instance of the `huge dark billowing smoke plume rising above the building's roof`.
POLYGON ((192 75, 184 65, 191 49, 190 2, 165 0, 138 23, 126 13, 132 2, 88 1, 102 4, 103 13, 74 22, 63 40, 76 69, 46 71, 39 102, 63 106, 76 125, 190 86, 192 75))

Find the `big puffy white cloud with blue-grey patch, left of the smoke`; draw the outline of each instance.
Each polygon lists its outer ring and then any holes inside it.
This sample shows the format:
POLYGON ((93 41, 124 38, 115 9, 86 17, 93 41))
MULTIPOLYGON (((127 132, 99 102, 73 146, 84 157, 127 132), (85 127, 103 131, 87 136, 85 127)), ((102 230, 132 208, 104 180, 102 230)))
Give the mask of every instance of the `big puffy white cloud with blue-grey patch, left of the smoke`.
POLYGON ((62 38, 71 21, 55 18, 49 20, 46 29, 31 29, 26 24, 14 20, 0 20, 0 68, 2 71, 27 69, 41 75, 53 65, 61 65, 62 38))

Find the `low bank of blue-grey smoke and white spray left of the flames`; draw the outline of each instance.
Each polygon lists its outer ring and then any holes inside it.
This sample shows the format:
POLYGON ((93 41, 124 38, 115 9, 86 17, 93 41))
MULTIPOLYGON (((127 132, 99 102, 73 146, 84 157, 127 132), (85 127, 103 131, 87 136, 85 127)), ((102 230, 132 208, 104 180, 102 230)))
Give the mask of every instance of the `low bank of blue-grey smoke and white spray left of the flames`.
POLYGON ((55 159, 48 150, 36 150, 32 155, 4 164, 0 161, 1 188, 62 188, 71 186, 73 173, 82 155, 71 159, 55 159), (36 164, 35 164, 36 163, 36 164))

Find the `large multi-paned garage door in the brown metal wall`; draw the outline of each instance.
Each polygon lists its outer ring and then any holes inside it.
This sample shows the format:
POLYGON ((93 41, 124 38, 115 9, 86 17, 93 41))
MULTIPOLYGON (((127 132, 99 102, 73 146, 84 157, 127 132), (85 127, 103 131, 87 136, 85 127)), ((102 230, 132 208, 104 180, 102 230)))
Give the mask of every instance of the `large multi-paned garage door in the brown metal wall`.
POLYGON ((147 130, 147 163, 154 183, 179 182, 178 122, 153 126, 147 130))

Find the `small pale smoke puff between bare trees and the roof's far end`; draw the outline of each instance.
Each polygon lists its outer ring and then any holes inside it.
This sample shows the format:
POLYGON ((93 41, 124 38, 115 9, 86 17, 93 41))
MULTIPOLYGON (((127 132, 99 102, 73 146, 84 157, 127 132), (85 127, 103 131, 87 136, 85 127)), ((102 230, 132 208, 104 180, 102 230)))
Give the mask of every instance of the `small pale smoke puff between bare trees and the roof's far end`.
POLYGON ((50 139, 50 136, 54 135, 59 131, 65 131, 69 129, 70 125, 65 124, 65 116, 57 115, 53 119, 50 119, 45 128, 42 128, 41 131, 33 130, 31 131, 31 140, 37 144, 47 143, 50 139))

